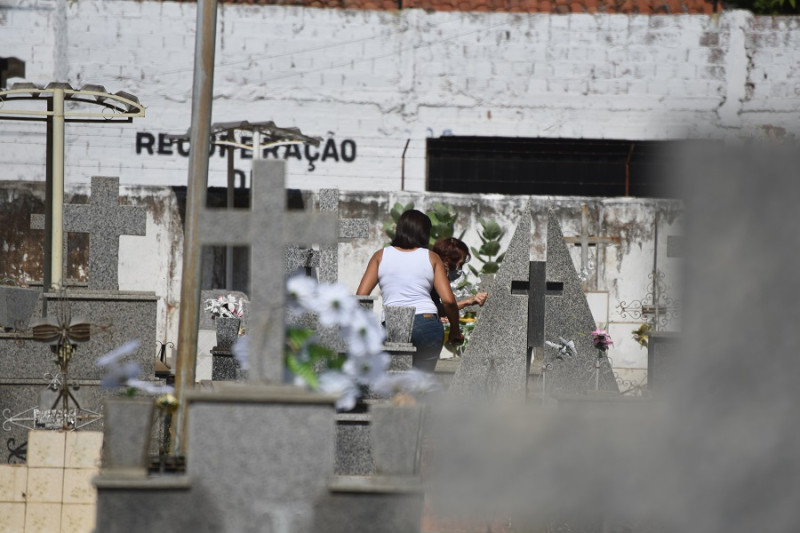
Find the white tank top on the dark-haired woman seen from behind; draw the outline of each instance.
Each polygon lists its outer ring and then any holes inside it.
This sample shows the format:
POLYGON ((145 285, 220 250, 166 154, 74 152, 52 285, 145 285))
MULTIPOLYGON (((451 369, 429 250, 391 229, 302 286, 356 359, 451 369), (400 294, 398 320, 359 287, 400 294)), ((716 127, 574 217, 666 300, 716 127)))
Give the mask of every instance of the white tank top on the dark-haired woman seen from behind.
POLYGON ((378 284, 383 305, 415 307, 416 314, 436 313, 431 299, 433 265, 427 248, 401 252, 393 246, 383 249, 378 265, 378 284))

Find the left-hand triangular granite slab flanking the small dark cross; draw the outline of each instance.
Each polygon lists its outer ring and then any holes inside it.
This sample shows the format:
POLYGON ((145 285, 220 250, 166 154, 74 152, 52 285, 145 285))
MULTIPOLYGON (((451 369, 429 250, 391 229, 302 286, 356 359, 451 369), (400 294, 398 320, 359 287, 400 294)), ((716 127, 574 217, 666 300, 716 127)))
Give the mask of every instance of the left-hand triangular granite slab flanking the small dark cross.
POLYGON ((450 383, 451 391, 524 401, 528 374, 528 297, 512 294, 511 287, 514 281, 528 280, 530 239, 528 204, 450 383))

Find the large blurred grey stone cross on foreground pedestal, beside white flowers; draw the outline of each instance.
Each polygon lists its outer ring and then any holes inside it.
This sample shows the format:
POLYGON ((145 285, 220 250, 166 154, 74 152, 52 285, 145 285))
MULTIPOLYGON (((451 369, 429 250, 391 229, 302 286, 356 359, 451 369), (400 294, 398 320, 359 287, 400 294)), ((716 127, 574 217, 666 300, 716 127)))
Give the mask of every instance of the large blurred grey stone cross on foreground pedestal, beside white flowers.
POLYGON ((283 382, 286 245, 335 244, 337 217, 286 210, 286 163, 253 161, 250 209, 202 209, 198 244, 250 247, 250 379, 283 382), (279 191, 281 194, 276 194, 279 191))

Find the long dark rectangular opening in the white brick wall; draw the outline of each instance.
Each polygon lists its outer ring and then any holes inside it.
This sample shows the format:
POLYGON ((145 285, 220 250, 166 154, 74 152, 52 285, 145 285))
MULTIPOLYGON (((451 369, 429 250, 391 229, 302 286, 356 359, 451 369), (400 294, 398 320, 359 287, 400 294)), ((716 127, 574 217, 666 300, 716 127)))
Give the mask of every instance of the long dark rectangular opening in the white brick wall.
POLYGON ((678 141, 440 137, 427 140, 427 190, 672 198, 678 141))

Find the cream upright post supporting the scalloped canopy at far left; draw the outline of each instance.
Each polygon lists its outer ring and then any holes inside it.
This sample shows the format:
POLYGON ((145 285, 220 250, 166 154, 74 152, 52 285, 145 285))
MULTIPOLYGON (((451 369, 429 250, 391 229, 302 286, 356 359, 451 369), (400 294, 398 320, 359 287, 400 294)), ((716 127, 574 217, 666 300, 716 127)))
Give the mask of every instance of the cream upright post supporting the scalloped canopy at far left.
POLYGON ((50 286, 58 290, 62 284, 64 265, 64 89, 53 89, 53 180, 50 205, 50 286))

